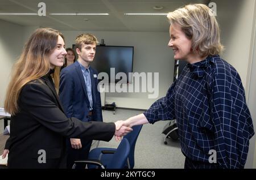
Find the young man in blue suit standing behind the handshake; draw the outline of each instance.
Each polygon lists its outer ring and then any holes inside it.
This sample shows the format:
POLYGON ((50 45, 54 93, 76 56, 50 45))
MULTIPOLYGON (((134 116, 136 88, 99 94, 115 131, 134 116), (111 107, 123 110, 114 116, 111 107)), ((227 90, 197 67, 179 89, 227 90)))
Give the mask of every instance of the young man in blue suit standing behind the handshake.
MULTIPOLYGON (((102 121, 101 98, 97 90, 97 71, 90 67, 96 53, 97 38, 89 33, 76 37, 78 59, 63 68, 60 74, 59 95, 67 117, 84 122, 102 121)), ((88 157, 92 140, 70 138, 67 140, 67 168, 75 160, 88 157)))

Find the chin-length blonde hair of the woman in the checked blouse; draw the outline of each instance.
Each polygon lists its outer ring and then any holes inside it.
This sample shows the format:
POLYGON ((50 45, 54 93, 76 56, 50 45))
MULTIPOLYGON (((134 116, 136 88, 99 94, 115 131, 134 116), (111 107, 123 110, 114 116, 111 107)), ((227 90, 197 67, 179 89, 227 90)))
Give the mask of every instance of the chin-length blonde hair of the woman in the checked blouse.
POLYGON ((170 24, 179 24, 185 36, 192 42, 193 52, 201 57, 216 55, 224 46, 220 42, 220 29, 212 10, 203 4, 178 8, 167 15, 170 24))

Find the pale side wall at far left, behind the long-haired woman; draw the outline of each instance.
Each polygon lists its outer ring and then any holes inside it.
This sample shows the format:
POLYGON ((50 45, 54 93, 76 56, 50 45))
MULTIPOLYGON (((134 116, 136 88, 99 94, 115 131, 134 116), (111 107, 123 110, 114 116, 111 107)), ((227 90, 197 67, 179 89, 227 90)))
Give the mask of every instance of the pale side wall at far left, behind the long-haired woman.
POLYGON ((14 61, 23 48, 23 27, 0 20, 0 106, 4 104, 6 88, 14 61))

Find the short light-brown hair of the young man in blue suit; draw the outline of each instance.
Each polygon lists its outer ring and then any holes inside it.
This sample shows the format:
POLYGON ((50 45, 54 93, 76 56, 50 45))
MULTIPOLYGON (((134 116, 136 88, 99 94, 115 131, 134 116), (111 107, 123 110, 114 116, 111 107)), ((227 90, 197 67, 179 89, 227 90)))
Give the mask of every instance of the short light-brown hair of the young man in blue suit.
POLYGON ((90 33, 83 33, 76 37, 76 48, 81 50, 82 44, 96 44, 98 43, 97 38, 90 33))

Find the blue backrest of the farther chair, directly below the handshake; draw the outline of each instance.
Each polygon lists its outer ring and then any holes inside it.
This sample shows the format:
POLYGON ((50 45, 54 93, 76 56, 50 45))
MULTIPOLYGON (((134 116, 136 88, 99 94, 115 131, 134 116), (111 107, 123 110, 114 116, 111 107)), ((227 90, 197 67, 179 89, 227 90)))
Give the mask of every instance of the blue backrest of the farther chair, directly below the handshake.
POLYGON ((137 141, 137 138, 139 136, 139 132, 141 132, 141 128, 143 125, 138 125, 138 126, 133 126, 133 131, 128 133, 127 135, 123 136, 123 138, 128 139, 130 143, 130 154, 129 154, 129 164, 130 164, 130 169, 133 169, 134 167, 134 151, 135 151, 135 144, 137 141))

